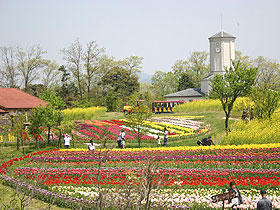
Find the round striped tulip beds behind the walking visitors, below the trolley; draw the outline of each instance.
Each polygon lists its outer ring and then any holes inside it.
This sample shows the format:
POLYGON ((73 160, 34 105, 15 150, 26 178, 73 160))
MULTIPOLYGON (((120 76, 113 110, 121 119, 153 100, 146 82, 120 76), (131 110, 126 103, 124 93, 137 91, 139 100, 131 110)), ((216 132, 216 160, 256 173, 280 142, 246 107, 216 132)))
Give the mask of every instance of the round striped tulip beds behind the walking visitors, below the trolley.
MULTIPOLYGON (((146 120, 142 129, 145 134, 141 135, 144 142, 156 142, 158 136, 163 136, 163 129, 169 130, 169 139, 186 138, 197 134, 203 134, 209 131, 209 125, 204 125, 203 122, 197 121, 203 116, 177 116, 177 117, 153 117, 146 120)), ((126 133, 126 141, 133 142, 137 139, 138 134, 127 125, 125 119, 122 120, 85 120, 77 121, 77 126, 73 128, 72 135, 75 141, 100 141, 106 137, 108 142, 114 142, 120 131, 123 129, 126 133)), ((38 135, 39 140, 47 139, 47 128, 41 127, 42 133, 38 135)), ((58 139, 58 131, 51 130, 50 137, 53 140, 58 139)), ((23 138, 27 141, 32 141, 35 137, 24 132, 23 138)))

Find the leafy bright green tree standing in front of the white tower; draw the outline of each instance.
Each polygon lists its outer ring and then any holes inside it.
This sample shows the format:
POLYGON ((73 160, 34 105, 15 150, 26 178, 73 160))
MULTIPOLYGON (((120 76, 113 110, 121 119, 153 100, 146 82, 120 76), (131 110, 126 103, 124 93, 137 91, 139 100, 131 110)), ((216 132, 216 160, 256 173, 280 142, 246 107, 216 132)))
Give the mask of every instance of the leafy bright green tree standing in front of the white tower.
POLYGON ((215 75, 211 80, 210 95, 218 98, 226 115, 225 129, 228 131, 228 120, 237 97, 249 93, 257 75, 257 68, 247 68, 242 63, 233 62, 224 75, 215 75))

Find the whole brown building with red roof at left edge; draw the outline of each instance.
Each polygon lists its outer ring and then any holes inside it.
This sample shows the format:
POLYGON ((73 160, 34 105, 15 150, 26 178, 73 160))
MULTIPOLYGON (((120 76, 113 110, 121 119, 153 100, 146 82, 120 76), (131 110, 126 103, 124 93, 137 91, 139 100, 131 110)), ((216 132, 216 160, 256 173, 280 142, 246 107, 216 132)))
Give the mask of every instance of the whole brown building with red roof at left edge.
POLYGON ((0 88, 0 130, 9 124, 8 115, 27 114, 37 106, 46 106, 46 102, 16 88, 0 88))

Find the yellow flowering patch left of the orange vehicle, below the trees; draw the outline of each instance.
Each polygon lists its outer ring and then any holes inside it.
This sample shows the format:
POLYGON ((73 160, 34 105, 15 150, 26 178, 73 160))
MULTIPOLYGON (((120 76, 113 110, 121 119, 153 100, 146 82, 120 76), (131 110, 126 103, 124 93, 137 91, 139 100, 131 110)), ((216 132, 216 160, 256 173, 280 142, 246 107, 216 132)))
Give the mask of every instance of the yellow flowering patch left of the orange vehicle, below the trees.
POLYGON ((65 109, 62 111, 64 120, 91 120, 96 116, 104 115, 106 107, 89 107, 65 109))

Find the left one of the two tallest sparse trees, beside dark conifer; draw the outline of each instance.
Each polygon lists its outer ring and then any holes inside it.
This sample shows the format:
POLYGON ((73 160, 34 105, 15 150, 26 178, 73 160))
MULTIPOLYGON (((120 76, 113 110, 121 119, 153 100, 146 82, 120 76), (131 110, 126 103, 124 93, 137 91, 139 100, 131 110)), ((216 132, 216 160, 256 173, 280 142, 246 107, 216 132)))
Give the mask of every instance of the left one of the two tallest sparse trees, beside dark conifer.
POLYGON ((69 70, 77 83, 79 97, 83 98, 83 67, 82 59, 84 50, 79 40, 76 40, 68 48, 63 48, 61 52, 64 54, 63 59, 66 60, 69 70))

